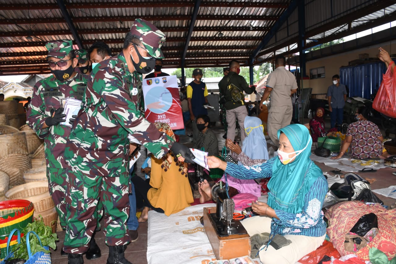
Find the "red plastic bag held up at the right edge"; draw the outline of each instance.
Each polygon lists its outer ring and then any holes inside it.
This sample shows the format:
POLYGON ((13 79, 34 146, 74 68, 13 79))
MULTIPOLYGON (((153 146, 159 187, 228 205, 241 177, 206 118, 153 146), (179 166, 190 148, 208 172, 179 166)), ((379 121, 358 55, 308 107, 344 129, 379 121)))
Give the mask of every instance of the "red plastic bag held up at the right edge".
POLYGON ((388 117, 396 118, 396 71, 392 74, 392 63, 382 76, 381 85, 373 101, 373 108, 388 117))

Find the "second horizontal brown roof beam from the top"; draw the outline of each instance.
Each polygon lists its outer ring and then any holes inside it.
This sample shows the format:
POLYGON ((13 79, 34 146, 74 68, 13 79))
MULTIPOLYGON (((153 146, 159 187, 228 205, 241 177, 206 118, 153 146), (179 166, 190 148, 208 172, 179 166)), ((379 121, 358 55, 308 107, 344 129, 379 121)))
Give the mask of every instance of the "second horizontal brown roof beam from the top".
MULTIPOLYGON (((59 0, 57 0, 59 1, 59 0)), ((87 23, 87 22, 124 22, 134 21, 136 18, 142 18, 147 21, 169 21, 169 20, 190 20, 190 15, 140 15, 140 16, 96 16, 96 17, 74 17, 74 23, 87 23)), ((278 20, 278 16, 274 15, 221 15, 223 20, 241 20, 241 21, 274 21, 278 20)), ((219 15, 198 15, 197 20, 219 20, 219 15)), ((51 23, 65 23, 61 17, 48 17, 48 18, 21 18, 21 19, 0 19, 0 25, 23 25, 23 24, 48 24, 51 23)))

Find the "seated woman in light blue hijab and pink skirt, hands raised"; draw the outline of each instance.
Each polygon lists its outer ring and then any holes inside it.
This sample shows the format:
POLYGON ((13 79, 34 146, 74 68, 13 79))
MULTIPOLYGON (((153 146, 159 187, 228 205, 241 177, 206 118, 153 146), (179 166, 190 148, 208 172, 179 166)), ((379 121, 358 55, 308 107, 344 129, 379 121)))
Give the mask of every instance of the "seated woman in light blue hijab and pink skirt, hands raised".
MULTIPOLYGON (((231 150, 232 159, 238 161, 239 165, 252 166, 263 163, 268 160, 267 141, 264 136, 264 126, 258 117, 245 117, 244 126, 246 138, 242 142, 242 149, 238 144, 234 144, 229 138, 225 145, 231 150)), ((225 183, 224 176, 220 179, 225 183)), ((255 180, 241 180, 233 177, 227 178, 228 193, 234 196, 238 193, 251 193, 256 197, 261 196, 261 185, 255 180)), ((225 186, 225 184, 224 184, 225 186)), ((198 191, 201 195, 200 202, 204 203, 212 199, 211 187, 207 180, 198 184, 198 191)))

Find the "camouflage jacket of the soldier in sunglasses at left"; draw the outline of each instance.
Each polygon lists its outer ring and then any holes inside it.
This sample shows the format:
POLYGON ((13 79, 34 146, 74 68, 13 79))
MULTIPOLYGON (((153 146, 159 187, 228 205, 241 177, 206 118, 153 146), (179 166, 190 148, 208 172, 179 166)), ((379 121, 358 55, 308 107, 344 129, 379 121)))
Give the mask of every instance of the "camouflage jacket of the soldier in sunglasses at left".
POLYGON ((58 124, 43 129, 42 126, 46 118, 51 115, 51 109, 56 110, 61 107, 62 98, 73 97, 82 100, 87 80, 87 75, 77 73, 64 82, 50 76, 34 85, 27 122, 38 137, 44 139, 47 166, 67 168, 64 151, 70 127, 58 124))

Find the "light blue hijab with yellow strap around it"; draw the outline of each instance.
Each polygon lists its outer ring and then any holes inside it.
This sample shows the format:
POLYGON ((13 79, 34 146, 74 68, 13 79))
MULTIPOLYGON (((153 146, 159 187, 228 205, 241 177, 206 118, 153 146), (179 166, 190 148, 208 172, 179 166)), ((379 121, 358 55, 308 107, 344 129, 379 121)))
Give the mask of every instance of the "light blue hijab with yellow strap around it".
MULTIPOLYGON (((251 159, 269 159, 263 122, 258 117, 245 117, 244 126, 249 133, 242 142, 242 151, 251 159)), ((238 161, 239 165, 243 165, 238 161)))

